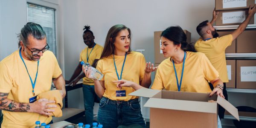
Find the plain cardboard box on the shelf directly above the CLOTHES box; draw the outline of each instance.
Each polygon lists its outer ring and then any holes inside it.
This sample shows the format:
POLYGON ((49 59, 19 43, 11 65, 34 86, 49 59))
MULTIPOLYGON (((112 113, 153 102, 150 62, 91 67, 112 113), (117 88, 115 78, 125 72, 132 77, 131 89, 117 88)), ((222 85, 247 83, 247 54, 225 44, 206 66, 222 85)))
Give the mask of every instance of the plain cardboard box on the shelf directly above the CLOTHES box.
POLYGON ((236 39, 237 53, 255 53, 256 52, 256 30, 246 30, 236 39))

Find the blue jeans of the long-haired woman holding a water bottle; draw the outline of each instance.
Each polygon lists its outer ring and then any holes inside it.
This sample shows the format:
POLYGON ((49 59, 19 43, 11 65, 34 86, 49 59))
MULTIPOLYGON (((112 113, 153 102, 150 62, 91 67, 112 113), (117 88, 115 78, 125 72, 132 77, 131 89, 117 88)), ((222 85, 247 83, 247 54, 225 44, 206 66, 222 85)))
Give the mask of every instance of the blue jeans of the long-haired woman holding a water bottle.
POLYGON ((140 111, 139 99, 115 101, 102 97, 99 103, 98 122, 103 128, 117 128, 119 125, 138 124, 146 128, 140 111))

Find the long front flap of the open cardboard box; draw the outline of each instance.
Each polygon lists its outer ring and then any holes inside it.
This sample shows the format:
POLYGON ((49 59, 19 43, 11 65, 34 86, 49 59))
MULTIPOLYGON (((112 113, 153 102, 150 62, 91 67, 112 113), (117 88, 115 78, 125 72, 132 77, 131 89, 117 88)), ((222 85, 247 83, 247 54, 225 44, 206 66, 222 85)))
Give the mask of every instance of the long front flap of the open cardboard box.
POLYGON ((212 102, 150 98, 145 103, 144 107, 203 113, 217 113, 217 103, 212 102))

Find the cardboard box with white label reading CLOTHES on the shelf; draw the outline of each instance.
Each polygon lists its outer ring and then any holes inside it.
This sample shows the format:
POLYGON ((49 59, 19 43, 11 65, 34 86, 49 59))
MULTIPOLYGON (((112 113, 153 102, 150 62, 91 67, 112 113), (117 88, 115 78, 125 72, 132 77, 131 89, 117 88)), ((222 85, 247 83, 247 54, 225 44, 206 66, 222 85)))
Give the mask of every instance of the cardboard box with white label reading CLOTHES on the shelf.
POLYGON ((256 60, 236 60, 236 88, 256 89, 256 60))

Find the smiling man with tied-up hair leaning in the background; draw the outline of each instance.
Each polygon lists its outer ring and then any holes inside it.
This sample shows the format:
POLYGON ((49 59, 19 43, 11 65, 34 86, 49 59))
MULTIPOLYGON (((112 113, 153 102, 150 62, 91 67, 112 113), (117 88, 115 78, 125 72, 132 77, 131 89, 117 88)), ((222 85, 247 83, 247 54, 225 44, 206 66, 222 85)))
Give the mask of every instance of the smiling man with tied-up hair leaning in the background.
POLYGON ((71 84, 72 86, 75 86, 80 79, 83 79, 85 123, 92 125, 94 102, 99 102, 100 99, 94 91, 93 80, 88 79, 87 77, 85 77, 84 73, 81 73, 82 65, 80 63, 81 61, 84 61, 85 63, 88 62, 90 65, 95 67, 95 63, 99 60, 103 47, 94 42, 95 37, 93 35, 93 32, 90 30, 90 26, 84 26, 83 30, 83 41, 84 44, 87 45, 87 47, 85 47, 81 51, 79 64, 77 65, 76 70, 74 71, 71 78, 66 81, 66 84, 71 84))

